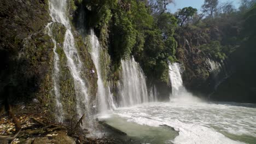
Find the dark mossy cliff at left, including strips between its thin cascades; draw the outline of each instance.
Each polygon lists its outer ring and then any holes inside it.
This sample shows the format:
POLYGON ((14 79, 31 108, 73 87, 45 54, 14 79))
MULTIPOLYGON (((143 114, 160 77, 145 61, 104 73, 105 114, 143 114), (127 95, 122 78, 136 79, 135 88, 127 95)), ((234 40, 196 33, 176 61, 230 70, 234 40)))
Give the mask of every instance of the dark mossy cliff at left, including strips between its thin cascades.
MULTIPOLYGON (((46 29, 46 25, 51 22, 48 1, 1 1, 0 6, 0 55, 3 68, 0 92, 4 96, 1 97, 1 104, 7 99, 10 104, 24 103, 26 109, 44 111, 54 118, 54 43, 46 29)), ((56 40, 56 52, 60 56, 59 87, 64 117, 71 119, 77 110, 74 80, 62 48, 66 28, 56 22, 51 27, 56 40)), ((90 73, 90 70, 95 69, 94 63, 88 45, 84 44, 75 28, 72 29, 75 47, 83 59, 82 77, 86 80, 92 107, 97 92, 97 75, 90 73)))

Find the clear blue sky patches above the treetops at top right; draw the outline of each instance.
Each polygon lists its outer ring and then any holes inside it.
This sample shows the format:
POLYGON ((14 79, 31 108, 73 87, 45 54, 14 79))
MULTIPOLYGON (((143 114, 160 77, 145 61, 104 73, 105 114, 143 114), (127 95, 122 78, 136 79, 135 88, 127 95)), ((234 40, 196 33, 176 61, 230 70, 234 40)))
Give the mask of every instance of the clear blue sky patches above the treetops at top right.
MULTIPOLYGON (((170 10, 171 13, 175 13, 178 9, 182 9, 184 7, 193 7, 200 11, 204 0, 174 0, 174 2, 175 5, 170 4, 168 6, 168 10, 170 10)), ((240 0, 219 0, 219 4, 225 2, 232 2, 236 8, 240 5, 240 0)))

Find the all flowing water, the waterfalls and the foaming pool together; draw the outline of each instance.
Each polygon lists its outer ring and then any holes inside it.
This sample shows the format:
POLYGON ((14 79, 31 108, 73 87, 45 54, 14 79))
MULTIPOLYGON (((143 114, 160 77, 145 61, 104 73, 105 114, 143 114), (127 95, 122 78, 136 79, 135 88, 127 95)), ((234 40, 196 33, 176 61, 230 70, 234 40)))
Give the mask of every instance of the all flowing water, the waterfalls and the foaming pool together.
MULTIPOLYGON (((86 80, 82 76, 83 62, 75 47, 72 28, 67 16, 66 0, 49 0, 50 15, 53 22, 66 27, 63 51, 67 66, 74 80, 77 112, 79 117, 86 114, 86 122, 92 121, 89 107, 86 80)), ((63 121, 63 107, 59 86, 59 55, 56 52, 56 40, 51 33, 53 22, 46 27, 54 43, 54 94, 56 98, 56 116, 63 121)), ((113 127, 123 130, 127 135, 136 137, 141 143, 255 143, 256 141, 256 105, 239 103, 204 102, 190 94, 183 86, 178 63, 169 65, 172 85, 170 101, 158 101, 155 86, 148 93, 146 76, 132 57, 121 60, 121 80, 118 84, 118 106, 110 92, 110 84, 104 81, 101 73, 100 53, 102 47, 93 31, 90 32, 91 56, 97 69, 97 98, 103 118, 113 127), (130 107, 128 107, 130 106, 130 107), (119 107, 119 108, 117 108, 119 107), (109 109, 112 109, 109 111, 109 109), (168 125, 170 127, 162 127, 168 125), (174 130, 172 128, 174 128, 174 130), (177 134, 178 133, 178 134, 177 134)), ((210 63, 211 64, 211 63, 210 63)), ((212 63, 212 70, 218 65, 212 63)))

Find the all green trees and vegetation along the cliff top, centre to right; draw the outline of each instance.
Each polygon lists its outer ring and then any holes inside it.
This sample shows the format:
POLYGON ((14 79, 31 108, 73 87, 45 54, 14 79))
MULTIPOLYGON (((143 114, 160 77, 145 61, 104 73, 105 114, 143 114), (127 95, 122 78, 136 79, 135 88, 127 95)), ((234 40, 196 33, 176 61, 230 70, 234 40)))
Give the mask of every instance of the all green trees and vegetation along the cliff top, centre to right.
POLYGON ((114 71, 119 69, 120 59, 133 55, 148 78, 155 82, 168 82, 168 62, 177 61, 177 40, 185 35, 200 34, 199 42, 191 46, 219 61, 248 39, 248 35, 241 37, 241 30, 243 15, 253 1, 243 0, 237 10, 230 2, 219 4, 218 0, 205 0, 201 13, 185 7, 171 14, 167 7, 173 2, 74 1, 83 4, 88 27, 95 29, 101 44, 108 49, 114 71))

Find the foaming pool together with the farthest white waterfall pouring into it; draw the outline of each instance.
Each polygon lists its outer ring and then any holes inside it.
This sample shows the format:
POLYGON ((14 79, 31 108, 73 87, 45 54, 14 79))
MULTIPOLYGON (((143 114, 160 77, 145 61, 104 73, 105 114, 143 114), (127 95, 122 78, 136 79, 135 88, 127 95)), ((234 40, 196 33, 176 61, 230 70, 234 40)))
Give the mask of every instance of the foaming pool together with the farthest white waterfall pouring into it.
POLYGON ((106 122, 139 143, 256 142, 255 104, 203 102, 184 88, 177 63, 170 64, 169 72, 173 90, 170 102, 120 107, 109 111, 106 122), (162 129, 162 125, 174 128, 178 135, 172 129, 162 129))

